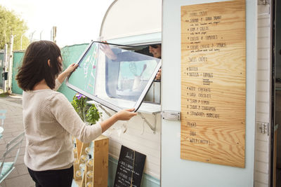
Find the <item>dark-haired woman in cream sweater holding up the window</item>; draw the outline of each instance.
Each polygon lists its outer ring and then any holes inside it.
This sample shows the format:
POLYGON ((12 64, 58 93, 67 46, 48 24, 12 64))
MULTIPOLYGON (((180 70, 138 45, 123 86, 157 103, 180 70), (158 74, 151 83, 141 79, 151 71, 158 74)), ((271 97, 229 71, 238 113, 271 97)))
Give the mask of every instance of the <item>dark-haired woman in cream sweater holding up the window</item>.
POLYGON ((89 142, 117 120, 136 116, 133 109, 115 113, 97 125, 85 125, 67 98, 58 89, 77 67, 63 73, 60 48, 51 41, 36 41, 25 51, 16 77, 22 93, 25 126, 25 165, 36 186, 71 186, 73 177, 72 139, 89 142))

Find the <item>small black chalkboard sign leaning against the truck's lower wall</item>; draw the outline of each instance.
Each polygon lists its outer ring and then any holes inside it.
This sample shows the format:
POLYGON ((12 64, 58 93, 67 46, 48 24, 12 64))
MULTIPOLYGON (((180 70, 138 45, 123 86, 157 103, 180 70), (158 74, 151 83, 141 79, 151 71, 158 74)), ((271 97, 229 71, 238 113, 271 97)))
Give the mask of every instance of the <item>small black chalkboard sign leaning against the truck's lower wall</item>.
POLYGON ((143 168, 145 167, 146 155, 137 151, 121 147, 117 171, 115 175, 115 187, 141 186, 143 168))

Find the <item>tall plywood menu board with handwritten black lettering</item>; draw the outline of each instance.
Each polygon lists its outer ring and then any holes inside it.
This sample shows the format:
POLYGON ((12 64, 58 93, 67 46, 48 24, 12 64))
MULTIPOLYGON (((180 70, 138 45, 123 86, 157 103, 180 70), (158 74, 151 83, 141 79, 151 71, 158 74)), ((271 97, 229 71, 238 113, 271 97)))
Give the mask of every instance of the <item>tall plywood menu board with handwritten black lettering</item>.
POLYGON ((181 6, 181 158, 244 167, 245 2, 181 6))

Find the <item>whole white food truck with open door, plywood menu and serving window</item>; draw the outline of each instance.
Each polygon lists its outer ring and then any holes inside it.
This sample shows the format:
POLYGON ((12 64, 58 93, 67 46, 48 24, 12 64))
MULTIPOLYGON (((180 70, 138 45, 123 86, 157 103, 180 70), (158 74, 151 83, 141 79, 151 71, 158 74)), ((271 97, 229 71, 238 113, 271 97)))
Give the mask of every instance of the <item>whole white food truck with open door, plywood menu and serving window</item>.
POLYGON ((67 78, 102 120, 138 112, 103 133, 108 186, 123 146, 145 155, 142 186, 280 185, 280 9, 275 0, 111 4, 67 78))

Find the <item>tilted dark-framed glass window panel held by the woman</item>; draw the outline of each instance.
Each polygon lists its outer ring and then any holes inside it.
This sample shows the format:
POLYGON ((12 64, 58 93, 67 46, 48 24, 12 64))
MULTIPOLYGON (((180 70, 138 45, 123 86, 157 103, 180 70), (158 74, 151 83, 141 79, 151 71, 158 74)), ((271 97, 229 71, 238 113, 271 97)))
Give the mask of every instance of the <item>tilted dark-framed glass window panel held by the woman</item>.
POLYGON ((145 50, 148 46, 93 42, 67 86, 115 111, 137 110, 161 66, 158 58, 144 55, 145 50))

